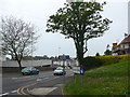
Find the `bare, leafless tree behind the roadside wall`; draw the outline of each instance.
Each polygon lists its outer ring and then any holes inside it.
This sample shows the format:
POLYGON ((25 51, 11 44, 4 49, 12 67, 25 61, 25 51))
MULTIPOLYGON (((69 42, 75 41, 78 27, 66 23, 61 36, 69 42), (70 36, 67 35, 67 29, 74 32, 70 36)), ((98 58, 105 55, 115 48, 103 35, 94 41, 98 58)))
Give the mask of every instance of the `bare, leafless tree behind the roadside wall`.
POLYGON ((31 44, 36 42, 37 36, 31 24, 24 23, 13 16, 2 17, 0 22, 0 33, 2 36, 2 51, 17 60, 22 69, 22 59, 32 52, 31 44))

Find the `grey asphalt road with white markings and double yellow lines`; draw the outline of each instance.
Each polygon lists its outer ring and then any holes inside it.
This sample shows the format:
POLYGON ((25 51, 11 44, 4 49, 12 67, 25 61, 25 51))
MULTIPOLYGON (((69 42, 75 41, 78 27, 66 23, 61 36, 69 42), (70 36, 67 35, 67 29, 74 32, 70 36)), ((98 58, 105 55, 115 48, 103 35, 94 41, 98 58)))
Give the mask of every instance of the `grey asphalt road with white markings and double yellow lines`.
POLYGON ((53 75, 53 71, 43 71, 34 75, 20 73, 5 73, 2 75, 2 93, 0 96, 28 95, 34 88, 41 88, 48 93, 42 95, 62 95, 62 86, 73 75, 72 70, 66 70, 66 75, 53 75))

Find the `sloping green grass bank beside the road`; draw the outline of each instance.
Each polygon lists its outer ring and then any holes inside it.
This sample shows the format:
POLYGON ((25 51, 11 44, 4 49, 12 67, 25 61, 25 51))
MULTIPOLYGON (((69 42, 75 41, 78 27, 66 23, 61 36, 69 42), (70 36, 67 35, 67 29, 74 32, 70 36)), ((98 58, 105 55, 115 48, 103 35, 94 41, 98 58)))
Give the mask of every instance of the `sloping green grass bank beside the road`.
POLYGON ((82 85, 81 75, 75 75, 64 92, 66 95, 128 95, 128 65, 126 61, 88 70, 82 85))

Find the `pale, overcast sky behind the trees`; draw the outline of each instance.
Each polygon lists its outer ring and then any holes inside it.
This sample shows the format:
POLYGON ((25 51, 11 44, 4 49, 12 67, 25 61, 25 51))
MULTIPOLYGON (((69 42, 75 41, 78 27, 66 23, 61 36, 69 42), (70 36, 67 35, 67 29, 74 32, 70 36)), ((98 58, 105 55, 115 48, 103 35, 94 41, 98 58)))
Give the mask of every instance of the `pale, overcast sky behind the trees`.
MULTIPOLYGON (((0 17, 14 16, 36 26, 37 34, 40 37, 34 44, 36 47, 34 56, 51 57, 65 54, 76 57, 72 39, 65 39, 61 33, 46 32, 49 16, 63 8, 65 2, 66 0, 0 0, 0 17)), ((106 0, 106 3, 102 15, 113 23, 103 37, 88 41, 88 52, 84 57, 94 56, 96 53, 103 55, 107 44, 112 47, 113 43, 119 43, 125 38, 125 33, 128 33, 128 0, 106 0)))

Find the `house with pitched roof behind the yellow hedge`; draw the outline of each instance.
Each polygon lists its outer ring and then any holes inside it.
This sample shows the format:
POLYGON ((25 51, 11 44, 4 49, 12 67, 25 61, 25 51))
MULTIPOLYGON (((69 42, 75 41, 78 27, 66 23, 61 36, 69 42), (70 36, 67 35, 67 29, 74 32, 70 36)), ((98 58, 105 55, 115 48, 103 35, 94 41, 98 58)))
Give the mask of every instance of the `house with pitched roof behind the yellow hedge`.
POLYGON ((113 55, 130 54, 130 34, 126 36, 119 44, 113 43, 112 52, 113 55))

